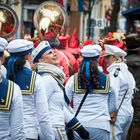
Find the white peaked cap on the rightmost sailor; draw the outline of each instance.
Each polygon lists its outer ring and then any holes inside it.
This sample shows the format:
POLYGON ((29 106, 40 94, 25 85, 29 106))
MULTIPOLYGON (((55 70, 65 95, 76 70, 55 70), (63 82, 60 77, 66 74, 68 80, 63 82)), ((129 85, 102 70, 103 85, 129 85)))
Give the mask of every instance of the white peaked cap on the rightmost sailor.
POLYGON ((103 56, 115 55, 115 56, 119 56, 119 57, 125 57, 127 55, 127 53, 125 51, 123 51, 122 49, 120 49, 117 46, 105 44, 104 47, 105 47, 106 52, 103 56))

